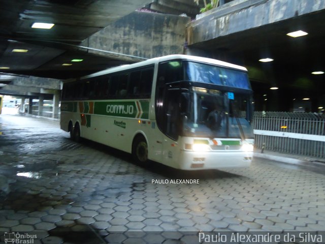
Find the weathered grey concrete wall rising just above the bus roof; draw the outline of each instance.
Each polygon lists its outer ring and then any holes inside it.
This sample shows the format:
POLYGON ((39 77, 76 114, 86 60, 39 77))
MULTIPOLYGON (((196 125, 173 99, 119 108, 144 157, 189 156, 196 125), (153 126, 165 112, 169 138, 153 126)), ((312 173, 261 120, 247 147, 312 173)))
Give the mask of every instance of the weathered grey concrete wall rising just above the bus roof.
POLYGON ((86 39, 82 45, 151 58, 183 53, 189 17, 133 12, 86 39))

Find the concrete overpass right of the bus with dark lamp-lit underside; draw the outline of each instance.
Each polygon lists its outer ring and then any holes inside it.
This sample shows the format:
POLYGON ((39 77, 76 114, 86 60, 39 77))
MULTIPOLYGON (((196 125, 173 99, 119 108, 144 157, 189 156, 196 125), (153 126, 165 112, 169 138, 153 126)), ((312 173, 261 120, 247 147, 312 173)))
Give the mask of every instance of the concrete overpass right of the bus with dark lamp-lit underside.
POLYGON ((303 107, 317 111, 325 107, 324 75, 311 73, 325 71, 320 55, 324 23, 325 2, 321 0, 236 0, 188 24, 187 53, 246 66, 257 110, 303 107), (286 35, 299 30, 308 35, 286 35), (267 57, 274 61, 258 61, 267 57), (270 90, 271 86, 279 89, 270 90))

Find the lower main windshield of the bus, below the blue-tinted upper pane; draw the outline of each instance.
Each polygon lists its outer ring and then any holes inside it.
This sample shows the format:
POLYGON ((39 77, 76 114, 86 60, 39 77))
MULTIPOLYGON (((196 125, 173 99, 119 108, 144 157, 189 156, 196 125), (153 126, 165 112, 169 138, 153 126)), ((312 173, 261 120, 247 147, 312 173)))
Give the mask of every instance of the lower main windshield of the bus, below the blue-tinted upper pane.
POLYGON ((249 96, 230 94, 199 87, 182 93, 182 134, 210 138, 254 138, 249 123, 249 96))

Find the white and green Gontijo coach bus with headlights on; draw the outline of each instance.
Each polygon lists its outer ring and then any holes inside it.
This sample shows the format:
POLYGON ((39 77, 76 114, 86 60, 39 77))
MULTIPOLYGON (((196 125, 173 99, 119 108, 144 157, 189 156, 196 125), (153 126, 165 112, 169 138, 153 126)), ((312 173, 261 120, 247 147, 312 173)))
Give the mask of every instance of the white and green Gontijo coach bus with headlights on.
POLYGON ((67 80, 62 130, 141 164, 246 167, 253 154, 252 90, 244 67, 169 55, 67 80))

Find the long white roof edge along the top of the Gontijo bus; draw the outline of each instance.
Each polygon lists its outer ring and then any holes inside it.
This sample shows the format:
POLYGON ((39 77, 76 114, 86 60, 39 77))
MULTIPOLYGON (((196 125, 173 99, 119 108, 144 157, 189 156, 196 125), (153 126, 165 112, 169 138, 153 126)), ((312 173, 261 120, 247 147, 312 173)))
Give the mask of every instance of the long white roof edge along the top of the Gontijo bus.
MULTIPOLYGON (((223 62, 217 59, 212 59, 212 58, 207 58, 207 57, 199 57, 199 56, 191 56, 191 55, 184 55, 184 54, 173 54, 173 55, 167 55, 167 56, 162 56, 162 57, 154 57, 154 58, 150 58, 147 59, 145 61, 139 62, 139 63, 135 63, 135 64, 131 64, 131 65, 122 65, 122 66, 118 66, 118 67, 113 67, 107 70, 103 70, 103 71, 99 71, 87 76, 83 76, 80 79, 87 79, 87 78, 91 78, 91 77, 96 77, 96 76, 101 76, 101 75, 106 75, 109 73, 114 73, 114 72, 119 72, 119 71, 123 71, 125 70, 125 68, 127 67, 127 69, 134 69, 134 68, 139 68, 142 66, 147 66, 147 65, 151 65, 151 64, 158 64, 160 62, 166 62, 169 60, 175 60, 175 59, 183 59, 183 60, 192 60, 192 61, 197 61, 200 63, 207 63, 207 64, 213 64, 213 65, 217 65, 217 66, 222 66, 222 67, 229 67, 229 68, 233 68, 236 70, 242 70, 242 71, 247 71, 247 69, 245 67, 239 66, 239 65, 234 65, 234 64, 230 64, 227 62, 223 62)), ((66 80, 67 82, 69 81, 75 81, 76 79, 68 79, 66 80)))

